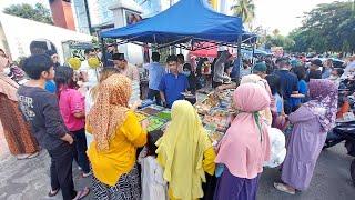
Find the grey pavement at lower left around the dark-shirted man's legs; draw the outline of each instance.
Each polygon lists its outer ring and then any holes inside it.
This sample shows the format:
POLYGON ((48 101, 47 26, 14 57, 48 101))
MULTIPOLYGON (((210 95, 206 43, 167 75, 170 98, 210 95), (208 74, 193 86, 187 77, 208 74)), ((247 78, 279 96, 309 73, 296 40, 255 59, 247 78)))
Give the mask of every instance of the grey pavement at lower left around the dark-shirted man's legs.
MULTIPOLYGON (((45 150, 30 160, 17 160, 7 153, 0 157, 0 200, 61 200, 47 197, 50 191, 50 158, 45 150)), ((90 187, 91 178, 80 178, 77 167, 73 167, 75 189, 90 187)), ((84 198, 91 199, 90 197, 84 198)))

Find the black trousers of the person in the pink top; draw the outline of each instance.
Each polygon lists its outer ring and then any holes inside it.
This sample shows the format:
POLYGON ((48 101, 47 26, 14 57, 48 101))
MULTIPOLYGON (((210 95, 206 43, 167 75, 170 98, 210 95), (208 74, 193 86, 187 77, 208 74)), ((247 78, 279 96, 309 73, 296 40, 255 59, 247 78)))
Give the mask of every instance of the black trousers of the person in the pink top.
POLYGON ((90 172, 89 158, 87 156, 87 136, 85 129, 72 131, 74 138, 74 159, 84 173, 90 172))

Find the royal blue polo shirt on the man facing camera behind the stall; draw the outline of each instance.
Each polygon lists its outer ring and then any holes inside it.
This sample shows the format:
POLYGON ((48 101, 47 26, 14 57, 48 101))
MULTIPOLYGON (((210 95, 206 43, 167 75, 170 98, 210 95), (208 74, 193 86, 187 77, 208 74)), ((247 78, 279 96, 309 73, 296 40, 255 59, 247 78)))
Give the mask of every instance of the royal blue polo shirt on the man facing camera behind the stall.
POLYGON ((179 73, 174 76, 168 73, 162 78, 159 84, 159 90, 164 92, 166 104, 172 107, 174 101, 183 99, 181 92, 185 92, 189 89, 189 80, 186 76, 179 73))

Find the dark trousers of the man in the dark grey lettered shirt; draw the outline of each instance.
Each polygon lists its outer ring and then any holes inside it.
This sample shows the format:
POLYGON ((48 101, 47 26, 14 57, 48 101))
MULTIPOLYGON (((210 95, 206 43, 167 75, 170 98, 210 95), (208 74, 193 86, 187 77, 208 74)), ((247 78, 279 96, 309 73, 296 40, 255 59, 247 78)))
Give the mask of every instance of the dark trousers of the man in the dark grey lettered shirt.
POLYGON ((73 147, 63 143, 54 150, 48 150, 51 157, 51 187, 52 190, 62 190, 63 200, 72 200, 77 196, 74 190, 72 162, 73 147))

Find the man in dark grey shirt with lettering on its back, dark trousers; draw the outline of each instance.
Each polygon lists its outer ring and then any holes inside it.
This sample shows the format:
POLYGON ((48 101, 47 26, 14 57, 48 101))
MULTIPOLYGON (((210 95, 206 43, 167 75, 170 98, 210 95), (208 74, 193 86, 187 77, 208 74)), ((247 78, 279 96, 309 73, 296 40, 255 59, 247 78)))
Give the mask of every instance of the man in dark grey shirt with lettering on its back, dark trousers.
POLYGON ((82 199, 90 190, 74 190, 73 138, 60 114, 57 97, 44 90, 45 82, 54 78, 53 62, 47 54, 37 54, 26 59, 22 68, 31 80, 18 90, 19 107, 39 144, 51 157, 49 196, 55 196, 61 189, 64 200, 82 199))

